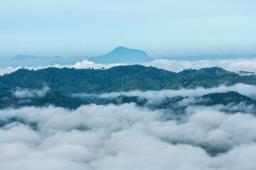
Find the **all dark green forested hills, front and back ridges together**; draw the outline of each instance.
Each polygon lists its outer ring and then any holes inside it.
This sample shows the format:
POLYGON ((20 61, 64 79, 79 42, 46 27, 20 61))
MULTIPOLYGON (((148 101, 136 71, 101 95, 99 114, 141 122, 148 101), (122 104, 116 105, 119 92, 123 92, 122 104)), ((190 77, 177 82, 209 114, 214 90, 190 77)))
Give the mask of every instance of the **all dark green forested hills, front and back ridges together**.
MULTIPOLYGON (((0 109, 23 106, 60 106, 75 109, 89 103, 115 105, 136 103, 151 109, 175 108, 176 103, 185 97, 166 98, 161 103, 149 104, 147 98, 138 96, 119 96, 117 98, 93 99, 93 94, 117 91, 147 91, 162 89, 195 89, 199 86, 210 88, 220 84, 233 85, 237 83, 256 85, 256 76, 241 76, 228 72, 220 67, 204 69, 184 69, 182 72, 169 72, 155 67, 142 65, 117 66, 110 69, 68 69, 46 68, 38 70, 18 69, 11 74, 0 77, 0 109), (18 98, 14 91, 21 89, 42 89, 48 86, 50 90, 43 97, 18 98), (76 98, 73 94, 92 94, 86 98, 76 98), (92 99, 93 100, 92 100, 92 99)), ((216 104, 246 103, 255 106, 252 98, 242 96, 237 92, 215 93, 201 96, 203 101, 195 98, 196 105, 213 106, 216 104), (209 99, 209 100, 208 100, 209 99)), ((183 113, 178 108, 177 113, 183 113)))

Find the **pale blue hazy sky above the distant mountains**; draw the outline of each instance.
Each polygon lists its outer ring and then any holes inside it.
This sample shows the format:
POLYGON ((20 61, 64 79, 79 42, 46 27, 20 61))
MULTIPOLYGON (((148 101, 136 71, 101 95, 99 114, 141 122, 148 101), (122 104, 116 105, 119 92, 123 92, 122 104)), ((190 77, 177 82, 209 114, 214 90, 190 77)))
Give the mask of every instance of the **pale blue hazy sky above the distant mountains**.
POLYGON ((0 60, 103 55, 256 53, 254 0, 0 0, 0 60))

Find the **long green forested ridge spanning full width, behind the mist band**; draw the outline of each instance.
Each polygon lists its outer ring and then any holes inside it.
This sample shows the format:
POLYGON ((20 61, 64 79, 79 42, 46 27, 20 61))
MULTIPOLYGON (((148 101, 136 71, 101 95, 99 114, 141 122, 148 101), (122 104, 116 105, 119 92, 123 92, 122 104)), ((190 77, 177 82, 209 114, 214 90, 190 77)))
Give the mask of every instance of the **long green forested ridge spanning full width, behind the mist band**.
POLYGON ((256 84, 255 76, 240 76, 220 67, 185 69, 169 72, 155 67, 127 65, 110 69, 18 69, 0 77, 0 93, 16 87, 40 89, 47 85, 60 94, 103 93, 139 89, 193 89, 197 86, 213 87, 220 84, 232 85, 238 82, 256 84))

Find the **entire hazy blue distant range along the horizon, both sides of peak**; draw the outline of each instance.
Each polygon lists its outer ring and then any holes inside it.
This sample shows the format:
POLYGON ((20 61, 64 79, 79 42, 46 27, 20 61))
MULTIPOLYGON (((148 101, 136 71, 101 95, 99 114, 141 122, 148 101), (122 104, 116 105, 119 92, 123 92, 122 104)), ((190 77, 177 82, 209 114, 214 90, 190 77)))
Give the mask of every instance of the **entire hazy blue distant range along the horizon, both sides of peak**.
MULTIPOLYGON (((163 57, 165 60, 229 60, 238 58, 255 58, 256 55, 200 55, 190 57, 163 57)), ((89 60, 95 63, 124 63, 124 64, 137 64, 144 62, 151 62, 154 60, 149 57, 146 52, 137 49, 129 49, 127 47, 117 47, 112 52, 106 55, 97 57, 38 57, 36 55, 17 55, 11 60, 0 60, 0 68, 6 67, 38 67, 38 66, 53 66, 55 64, 68 65, 75 64, 82 60, 89 60)))

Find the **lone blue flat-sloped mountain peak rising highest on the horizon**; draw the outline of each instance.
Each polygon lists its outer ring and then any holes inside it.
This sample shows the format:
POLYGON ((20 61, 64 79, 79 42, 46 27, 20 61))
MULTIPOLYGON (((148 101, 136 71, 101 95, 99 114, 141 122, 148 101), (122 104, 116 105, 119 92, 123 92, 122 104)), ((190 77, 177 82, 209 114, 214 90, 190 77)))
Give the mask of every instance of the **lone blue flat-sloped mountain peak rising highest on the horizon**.
POLYGON ((150 62, 153 59, 146 55, 146 52, 137 49, 129 49, 127 47, 117 47, 112 52, 106 55, 101 55, 99 57, 92 57, 89 59, 96 63, 142 63, 150 62))

